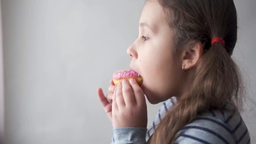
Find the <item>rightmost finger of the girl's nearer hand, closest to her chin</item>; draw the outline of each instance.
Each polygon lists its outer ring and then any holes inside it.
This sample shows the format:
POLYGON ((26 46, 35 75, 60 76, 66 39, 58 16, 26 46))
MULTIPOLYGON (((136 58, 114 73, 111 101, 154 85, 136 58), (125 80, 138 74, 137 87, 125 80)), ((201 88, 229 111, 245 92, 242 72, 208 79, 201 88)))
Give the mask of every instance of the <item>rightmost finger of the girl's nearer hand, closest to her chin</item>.
POLYGON ((130 79, 131 88, 134 93, 134 98, 137 105, 146 104, 146 99, 144 96, 143 91, 141 90, 141 87, 139 87, 138 83, 134 79, 130 79))

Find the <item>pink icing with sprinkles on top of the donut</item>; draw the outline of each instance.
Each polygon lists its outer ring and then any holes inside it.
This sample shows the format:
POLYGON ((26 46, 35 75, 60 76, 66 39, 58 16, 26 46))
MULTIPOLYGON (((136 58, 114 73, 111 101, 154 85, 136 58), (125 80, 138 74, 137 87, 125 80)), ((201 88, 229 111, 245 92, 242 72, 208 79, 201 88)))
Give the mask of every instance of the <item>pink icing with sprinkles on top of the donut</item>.
POLYGON ((139 77, 139 74, 132 69, 120 70, 114 73, 114 79, 128 78, 128 77, 139 77))

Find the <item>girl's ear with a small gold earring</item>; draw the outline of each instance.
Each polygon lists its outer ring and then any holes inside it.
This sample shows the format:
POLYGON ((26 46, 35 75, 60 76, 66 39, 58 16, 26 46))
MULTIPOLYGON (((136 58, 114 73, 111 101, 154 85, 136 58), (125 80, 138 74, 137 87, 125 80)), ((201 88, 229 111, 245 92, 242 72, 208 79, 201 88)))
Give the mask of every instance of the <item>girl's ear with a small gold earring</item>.
POLYGON ((191 69, 199 62, 203 55, 203 44, 200 41, 192 41, 181 53, 183 69, 191 69))

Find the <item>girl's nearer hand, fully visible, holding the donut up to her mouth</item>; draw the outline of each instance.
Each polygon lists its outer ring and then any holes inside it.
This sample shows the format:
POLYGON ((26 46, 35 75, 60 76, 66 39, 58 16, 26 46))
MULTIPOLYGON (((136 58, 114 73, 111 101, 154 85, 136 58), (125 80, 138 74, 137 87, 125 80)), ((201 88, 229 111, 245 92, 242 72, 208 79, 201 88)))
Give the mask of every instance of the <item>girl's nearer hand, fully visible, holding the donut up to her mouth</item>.
POLYGON ((114 90, 112 124, 114 128, 147 128, 146 99, 134 79, 123 80, 114 90))

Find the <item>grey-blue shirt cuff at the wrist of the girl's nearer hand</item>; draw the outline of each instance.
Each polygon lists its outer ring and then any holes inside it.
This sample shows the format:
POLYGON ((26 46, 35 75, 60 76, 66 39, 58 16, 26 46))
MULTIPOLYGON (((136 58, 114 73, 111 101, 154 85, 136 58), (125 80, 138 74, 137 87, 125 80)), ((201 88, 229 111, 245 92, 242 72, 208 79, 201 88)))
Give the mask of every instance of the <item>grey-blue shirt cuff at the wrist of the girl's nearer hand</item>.
POLYGON ((147 128, 114 128, 111 144, 146 144, 147 128))

